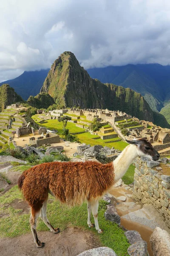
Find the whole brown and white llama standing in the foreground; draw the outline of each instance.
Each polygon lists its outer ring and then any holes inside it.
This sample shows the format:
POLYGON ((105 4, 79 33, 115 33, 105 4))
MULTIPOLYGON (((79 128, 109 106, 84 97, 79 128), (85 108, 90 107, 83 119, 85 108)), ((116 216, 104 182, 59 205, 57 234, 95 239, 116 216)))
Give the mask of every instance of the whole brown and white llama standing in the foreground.
POLYGON ((146 140, 127 142, 131 145, 128 145, 113 163, 52 162, 42 163, 23 172, 18 186, 31 207, 31 231, 37 247, 44 246, 37 237, 36 223, 39 216, 51 232, 59 233, 59 228, 52 227, 46 215, 48 193, 70 206, 87 201, 88 226, 94 227, 91 224, 92 211, 96 230, 102 233, 97 220, 99 199, 125 174, 136 157, 145 155, 152 160, 158 160, 160 156, 146 140))

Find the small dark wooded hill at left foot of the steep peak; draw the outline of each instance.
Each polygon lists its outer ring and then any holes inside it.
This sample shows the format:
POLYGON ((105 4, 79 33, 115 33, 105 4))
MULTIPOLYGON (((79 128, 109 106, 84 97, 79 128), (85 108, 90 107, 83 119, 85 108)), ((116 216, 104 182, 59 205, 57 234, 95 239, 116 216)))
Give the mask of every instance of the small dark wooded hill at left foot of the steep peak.
POLYGON ((27 102, 35 108, 48 108, 55 103, 54 99, 48 93, 39 93, 35 97, 30 96, 27 102))

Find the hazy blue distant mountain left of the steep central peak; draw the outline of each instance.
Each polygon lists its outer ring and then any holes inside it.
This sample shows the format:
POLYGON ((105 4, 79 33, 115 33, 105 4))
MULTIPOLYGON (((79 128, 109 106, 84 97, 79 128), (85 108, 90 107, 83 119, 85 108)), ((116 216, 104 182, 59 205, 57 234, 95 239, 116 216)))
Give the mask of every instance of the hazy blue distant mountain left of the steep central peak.
POLYGON ((49 69, 40 71, 25 71, 22 75, 15 79, 4 81, 0 83, 9 84, 10 87, 14 88, 16 93, 27 100, 30 95, 37 95, 40 92, 42 84, 48 74, 49 69))

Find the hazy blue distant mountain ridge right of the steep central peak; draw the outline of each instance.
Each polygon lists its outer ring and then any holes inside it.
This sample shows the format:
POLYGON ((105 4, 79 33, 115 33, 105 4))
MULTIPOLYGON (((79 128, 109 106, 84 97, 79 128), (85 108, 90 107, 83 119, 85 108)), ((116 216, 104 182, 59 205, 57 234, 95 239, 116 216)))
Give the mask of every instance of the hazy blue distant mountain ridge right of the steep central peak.
POLYGON ((153 111, 160 111, 170 100, 170 66, 160 64, 128 64, 87 70, 103 83, 129 87, 141 93, 153 111), (169 94, 169 95, 168 95, 169 94))

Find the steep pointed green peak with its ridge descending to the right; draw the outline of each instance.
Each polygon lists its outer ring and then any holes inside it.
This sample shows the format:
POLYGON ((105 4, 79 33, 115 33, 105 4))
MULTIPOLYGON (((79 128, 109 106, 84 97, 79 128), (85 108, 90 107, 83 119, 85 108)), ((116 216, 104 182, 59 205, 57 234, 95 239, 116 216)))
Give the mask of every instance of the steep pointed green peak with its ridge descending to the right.
MULTIPOLYGON (((119 109, 154 122, 154 113, 140 93, 92 79, 71 52, 62 53, 54 61, 40 92, 49 93, 57 104, 65 107, 119 109)), ((164 123, 168 127, 166 120, 164 123)))

